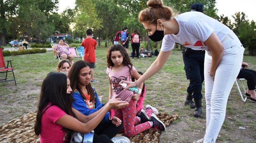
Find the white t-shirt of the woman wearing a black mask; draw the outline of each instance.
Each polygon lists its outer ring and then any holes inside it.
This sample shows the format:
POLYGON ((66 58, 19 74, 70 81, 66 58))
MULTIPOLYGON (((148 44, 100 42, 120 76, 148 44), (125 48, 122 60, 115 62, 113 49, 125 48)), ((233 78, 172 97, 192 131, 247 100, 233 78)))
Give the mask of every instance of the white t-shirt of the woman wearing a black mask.
POLYGON ((223 41, 232 31, 221 22, 201 12, 186 12, 174 18, 179 24, 179 33, 165 35, 161 51, 172 50, 175 42, 188 48, 207 50, 208 47, 204 42, 212 32, 215 32, 219 40, 223 41))

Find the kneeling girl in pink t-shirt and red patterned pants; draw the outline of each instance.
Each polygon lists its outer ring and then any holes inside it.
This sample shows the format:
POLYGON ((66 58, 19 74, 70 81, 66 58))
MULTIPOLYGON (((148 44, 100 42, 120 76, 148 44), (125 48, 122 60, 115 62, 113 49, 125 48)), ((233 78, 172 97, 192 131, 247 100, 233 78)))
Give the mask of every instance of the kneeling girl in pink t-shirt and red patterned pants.
MULTIPOLYGON (((122 101, 129 102, 129 106, 123 109, 114 110, 115 116, 121 120, 123 119, 126 136, 135 136, 136 134, 150 129, 151 127, 157 127, 160 130, 165 130, 165 125, 156 117, 155 114, 152 114, 150 119, 147 117, 136 117, 136 102, 134 99, 138 99, 140 95, 124 90, 122 86, 119 85, 119 82, 122 80, 131 81, 132 77, 135 79, 139 79, 140 77, 137 70, 133 67, 125 48, 118 44, 112 45, 110 46, 106 57, 108 62, 106 73, 108 74, 110 81, 109 99, 121 98, 122 101), (142 124, 134 126, 139 122, 142 122, 142 124)), ((142 89, 143 83, 138 86, 142 89)), ((111 114, 113 114, 113 112, 111 112, 111 114)))

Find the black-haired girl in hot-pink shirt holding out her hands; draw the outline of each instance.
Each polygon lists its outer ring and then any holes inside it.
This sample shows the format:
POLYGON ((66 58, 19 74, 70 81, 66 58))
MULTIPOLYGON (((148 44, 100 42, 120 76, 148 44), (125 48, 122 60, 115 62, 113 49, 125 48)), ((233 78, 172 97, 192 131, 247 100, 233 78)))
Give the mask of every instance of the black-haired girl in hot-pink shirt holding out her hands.
MULTIPOLYGON (((41 143, 69 142, 71 131, 91 132, 112 108, 124 108, 127 102, 110 100, 98 113, 88 116, 71 106, 70 81, 65 74, 49 73, 42 82, 34 131, 41 143)), ((94 134, 93 142, 113 143, 106 135, 94 134)))

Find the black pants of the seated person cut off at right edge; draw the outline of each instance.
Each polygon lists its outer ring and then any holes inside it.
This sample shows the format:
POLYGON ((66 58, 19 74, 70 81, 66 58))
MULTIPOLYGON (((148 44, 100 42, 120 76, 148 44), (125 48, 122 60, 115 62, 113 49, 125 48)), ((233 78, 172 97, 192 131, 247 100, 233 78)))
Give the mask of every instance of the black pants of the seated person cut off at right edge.
POLYGON ((247 80, 249 90, 255 90, 256 86, 256 71, 252 69, 240 69, 237 78, 244 78, 247 80))

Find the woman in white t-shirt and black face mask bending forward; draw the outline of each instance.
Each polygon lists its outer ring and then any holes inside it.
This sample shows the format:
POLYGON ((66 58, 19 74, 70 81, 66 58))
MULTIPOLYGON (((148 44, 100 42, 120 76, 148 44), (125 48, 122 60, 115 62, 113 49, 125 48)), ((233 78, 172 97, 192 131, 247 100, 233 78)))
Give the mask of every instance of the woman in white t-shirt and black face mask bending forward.
MULTIPOLYGON (((201 12, 187 12, 174 17, 173 10, 162 0, 147 1, 148 8, 139 14, 139 21, 152 41, 162 41, 157 59, 135 87, 157 73, 168 60, 174 43, 206 50, 204 62, 206 130, 204 143, 214 143, 224 122, 229 93, 239 73, 244 48, 238 37, 221 22, 201 12)), ((126 88, 126 89, 127 89, 126 88)))

